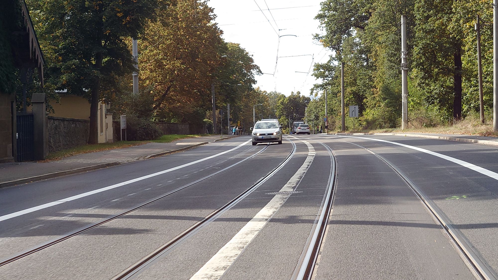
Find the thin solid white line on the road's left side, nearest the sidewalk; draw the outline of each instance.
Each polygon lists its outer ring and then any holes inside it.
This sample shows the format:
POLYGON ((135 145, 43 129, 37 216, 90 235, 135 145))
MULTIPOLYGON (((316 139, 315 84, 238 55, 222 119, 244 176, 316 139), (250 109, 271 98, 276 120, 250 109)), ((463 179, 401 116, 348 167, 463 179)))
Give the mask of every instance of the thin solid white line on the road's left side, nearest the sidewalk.
POLYGON ((114 184, 114 185, 111 185, 111 186, 103 187, 103 188, 100 188, 100 189, 96 189, 96 190, 88 191, 88 192, 85 192, 85 193, 73 195, 73 196, 70 196, 70 197, 67 197, 67 198, 64 198, 64 199, 60 199, 60 200, 57 200, 57 201, 48 202, 48 203, 45 203, 45 204, 41 204, 41 205, 38 205, 38 206, 34 206, 34 207, 31 207, 31 208, 20 210, 20 211, 14 212, 14 213, 6 214, 6 215, 3 215, 3 216, 0 216, 0 222, 8 220, 8 219, 12 219, 12 218, 24 215, 24 214, 28 214, 28 213, 31 213, 31 212, 34 212, 34 211, 38 211, 38 210, 41 210, 41 209, 45 209, 45 208, 48 208, 48 207, 59 205, 59 204, 64 203, 64 202, 73 201, 73 200, 78 199, 78 198, 86 197, 86 196, 89 196, 89 195, 92 195, 92 194, 96 194, 96 193, 103 192, 103 191, 106 191, 106 190, 114 189, 114 188, 121 187, 121 186, 124 186, 124 185, 127 185, 127 184, 131 184, 131 183, 138 182, 138 181, 141 181, 141 180, 144 180, 144 179, 148 179, 148 178, 151 178, 151 177, 154 177, 154 176, 157 176, 157 175, 161 175, 161 174, 168 173, 168 172, 171 172, 171 171, 174 171, 174 170, 178 170, 180 168, 187 167, 187 166, 190 166, 192 164, 196 164, 196 163, 199 163, 199 162, 202 162, 202 161, 205 161, 205 160, 208 160, 208 159, 220 156, 222 154, 226 154, 226 153, 231 152, 233 150, 236 150, 236 149, 238 149, 238 148, 240 148, 240 147, 248 144, 250 141, 251 140, 247 140, 246 142, 244 142, 242 144, 239 144, 238 146, 236 146, 234 148, 231 148, 229 150, 222 151, 220 153, 213 154, 211 156, 208 156, 208 157, 205 157, 205 158, 201 158, 201 159, 189 162, 189 163, 178 165, 176 167, 172 167, 172 168, 169 168, 169 169, 166 169, 166 170, 162 170, 162 171, 155 172, 155 173, 152 173, 152 174, 149 174, 149 175, 145 175, 145 176, 141 176, 141 177, 134 178, 134 179, 131 179, 131 180, 127 180, 127 181, 124 181, 124 182, 121 182, 121 183, 118 183, 118 184, 114 184))

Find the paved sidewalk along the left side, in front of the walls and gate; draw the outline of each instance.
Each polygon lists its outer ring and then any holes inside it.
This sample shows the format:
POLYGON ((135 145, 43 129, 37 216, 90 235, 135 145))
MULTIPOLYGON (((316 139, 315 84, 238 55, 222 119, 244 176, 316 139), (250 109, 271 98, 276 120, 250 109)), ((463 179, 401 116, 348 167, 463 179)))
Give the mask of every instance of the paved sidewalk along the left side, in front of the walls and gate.
MULTIPOLYGON (((231 136, 224 135, 223 139, 230 137, 231 136)), ((202 144, 203 142, 213 142, 220 139, 220 136, 196 137, 175 140, 170 143, 151 142, 120 149, 82 153, 49 162, 0 163, 0 187, 117 165, 148 158, 151 155, 160 155, 161 153, 167 153, 179 148, 188 148, 196 144, 202 144), (74 170, 76 168, 81 169, 74 170), (41 175, 45 175, 45 177, 40 178, 39 176, 41 175), (15 182, 15 180, 23 178, 31 178, 31 180, 27 179, 15 182)))

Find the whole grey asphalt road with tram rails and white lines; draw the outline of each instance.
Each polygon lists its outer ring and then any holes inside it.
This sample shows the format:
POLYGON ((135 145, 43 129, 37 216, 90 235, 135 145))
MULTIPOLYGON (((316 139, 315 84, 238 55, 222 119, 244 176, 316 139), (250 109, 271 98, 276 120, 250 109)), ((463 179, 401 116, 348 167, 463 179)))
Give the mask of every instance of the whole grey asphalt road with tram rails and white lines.
POLYGON ((249 140, 0 189, 0 279, 496 279, 496 147, 249 140))

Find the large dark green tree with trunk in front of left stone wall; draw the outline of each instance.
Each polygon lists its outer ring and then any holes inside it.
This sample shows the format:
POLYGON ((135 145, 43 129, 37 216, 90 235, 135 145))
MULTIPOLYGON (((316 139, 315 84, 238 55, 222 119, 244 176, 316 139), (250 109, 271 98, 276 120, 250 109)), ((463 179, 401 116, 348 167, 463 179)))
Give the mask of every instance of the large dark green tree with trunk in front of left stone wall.
POLYGON ((33 10, 41 46, 54 58, 46 67, 48 80, 58 89, 89 99, 88 142, 96 143, 99 101, 112 98, 118 77, 133 71, 125 38, 140 36, 158 0, 26 2, 33 10))

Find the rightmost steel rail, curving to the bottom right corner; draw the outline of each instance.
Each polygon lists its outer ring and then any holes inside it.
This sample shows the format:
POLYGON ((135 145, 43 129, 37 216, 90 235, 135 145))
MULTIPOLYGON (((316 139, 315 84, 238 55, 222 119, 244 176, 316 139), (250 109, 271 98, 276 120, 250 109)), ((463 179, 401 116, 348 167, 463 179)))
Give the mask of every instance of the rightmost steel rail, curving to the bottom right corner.
MULTIPOLYGON (((324 139, 333 139, 333 138, 324 138, 324 139)), ((439 207, 432 202, 430 198, 428 198, 416 185, 413 181, 411 181, 401 170, 399 170, 393 163, 389 160, 385 159, 383 156, 373 152, 369 148, 361 146, 357 143, 333 139, 341 142, 346 142, 350 144, 354 144, 359 146, 367 151, 371 152, 377 158, 382 160, 387 166, 389 166, 405 183, 406 185, 415 193, 418 199, 422 202, 428 212, 435 218, 435 220, 439 223, 443 231, 449 237, 451 243, 454 245, 453 247, 457 249, 457 252, 460 256, 465 260, 467 266, 474 274, 477 279, 482 280, 498 280, 497 272, 490 266, 490 264, 486 261, 486 259, 476 250, 472 243, 463 236, 459 230, 453 227, 450 219, 444 214, 444 212, 439 209, 439 207)))

